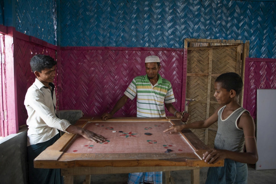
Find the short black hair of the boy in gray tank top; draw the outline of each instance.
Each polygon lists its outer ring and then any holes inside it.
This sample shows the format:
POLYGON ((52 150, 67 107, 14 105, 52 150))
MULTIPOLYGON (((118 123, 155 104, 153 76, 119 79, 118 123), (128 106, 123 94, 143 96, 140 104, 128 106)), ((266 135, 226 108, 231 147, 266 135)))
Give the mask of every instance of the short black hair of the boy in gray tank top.
POLYGON ((239 95, 243 89, 243 80, 234 72, 219 75, 215 82, 221 83, 221 87, 227 91, 230 91, 231 89, 235 90, 237 95, 239 95))

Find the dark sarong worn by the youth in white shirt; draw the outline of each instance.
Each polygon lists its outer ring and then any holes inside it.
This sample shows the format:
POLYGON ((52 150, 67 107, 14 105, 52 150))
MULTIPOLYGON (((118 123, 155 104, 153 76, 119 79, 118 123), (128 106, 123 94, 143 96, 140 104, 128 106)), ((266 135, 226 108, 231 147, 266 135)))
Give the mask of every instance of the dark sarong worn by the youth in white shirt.
POLYGON ((29 184, 63 184, 63 177, 60 175, 60 169, 39 169, 33 166, 33 160, 47 147, 53 145, 59 137, 60 135, 58 133, 48 141, 27 146, 29 184))

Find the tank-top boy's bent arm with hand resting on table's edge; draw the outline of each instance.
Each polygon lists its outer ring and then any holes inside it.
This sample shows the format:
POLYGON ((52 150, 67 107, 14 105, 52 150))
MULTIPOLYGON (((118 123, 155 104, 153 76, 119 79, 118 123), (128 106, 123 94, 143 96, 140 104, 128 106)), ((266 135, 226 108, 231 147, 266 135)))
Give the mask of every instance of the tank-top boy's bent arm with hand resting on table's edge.
POLYGON ((231 159, 241 163, 254 164, 258 161, 253 118, 248 113, 243 113, 239 119, 238 127, 243 129, 246 152, 239 153, 221 149, 210 149, 203 154, 205 162, 216 163, 220 159, 231 159))

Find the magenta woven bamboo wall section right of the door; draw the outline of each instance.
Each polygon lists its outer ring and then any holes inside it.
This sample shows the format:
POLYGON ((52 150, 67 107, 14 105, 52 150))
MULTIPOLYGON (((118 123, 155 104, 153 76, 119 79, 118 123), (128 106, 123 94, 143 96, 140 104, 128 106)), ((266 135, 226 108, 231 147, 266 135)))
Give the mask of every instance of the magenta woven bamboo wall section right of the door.
POLYGON ((247 58, 245 76, 243 107, 257 119, 257 89, 276 89, 276 59, 247 58))

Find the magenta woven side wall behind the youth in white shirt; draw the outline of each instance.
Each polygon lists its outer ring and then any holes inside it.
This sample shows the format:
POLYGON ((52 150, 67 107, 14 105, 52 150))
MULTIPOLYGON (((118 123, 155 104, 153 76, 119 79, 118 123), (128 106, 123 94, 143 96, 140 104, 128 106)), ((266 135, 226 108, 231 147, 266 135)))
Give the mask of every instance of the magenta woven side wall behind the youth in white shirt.
MULTIPOLYGON (((31 71, 30 59, 36 54, 50 55, 56 59, 56 50, 34 44, 19 38, 14 38, 14 61, 15 75, 17 83, 17 109, 18 125, 25 125, 27 120, 27 110, 24 105, 25 95, 28 88, 35 81, 35 75, 31 71)), ((55 80, 55 83, 57 80, 55 80)))

